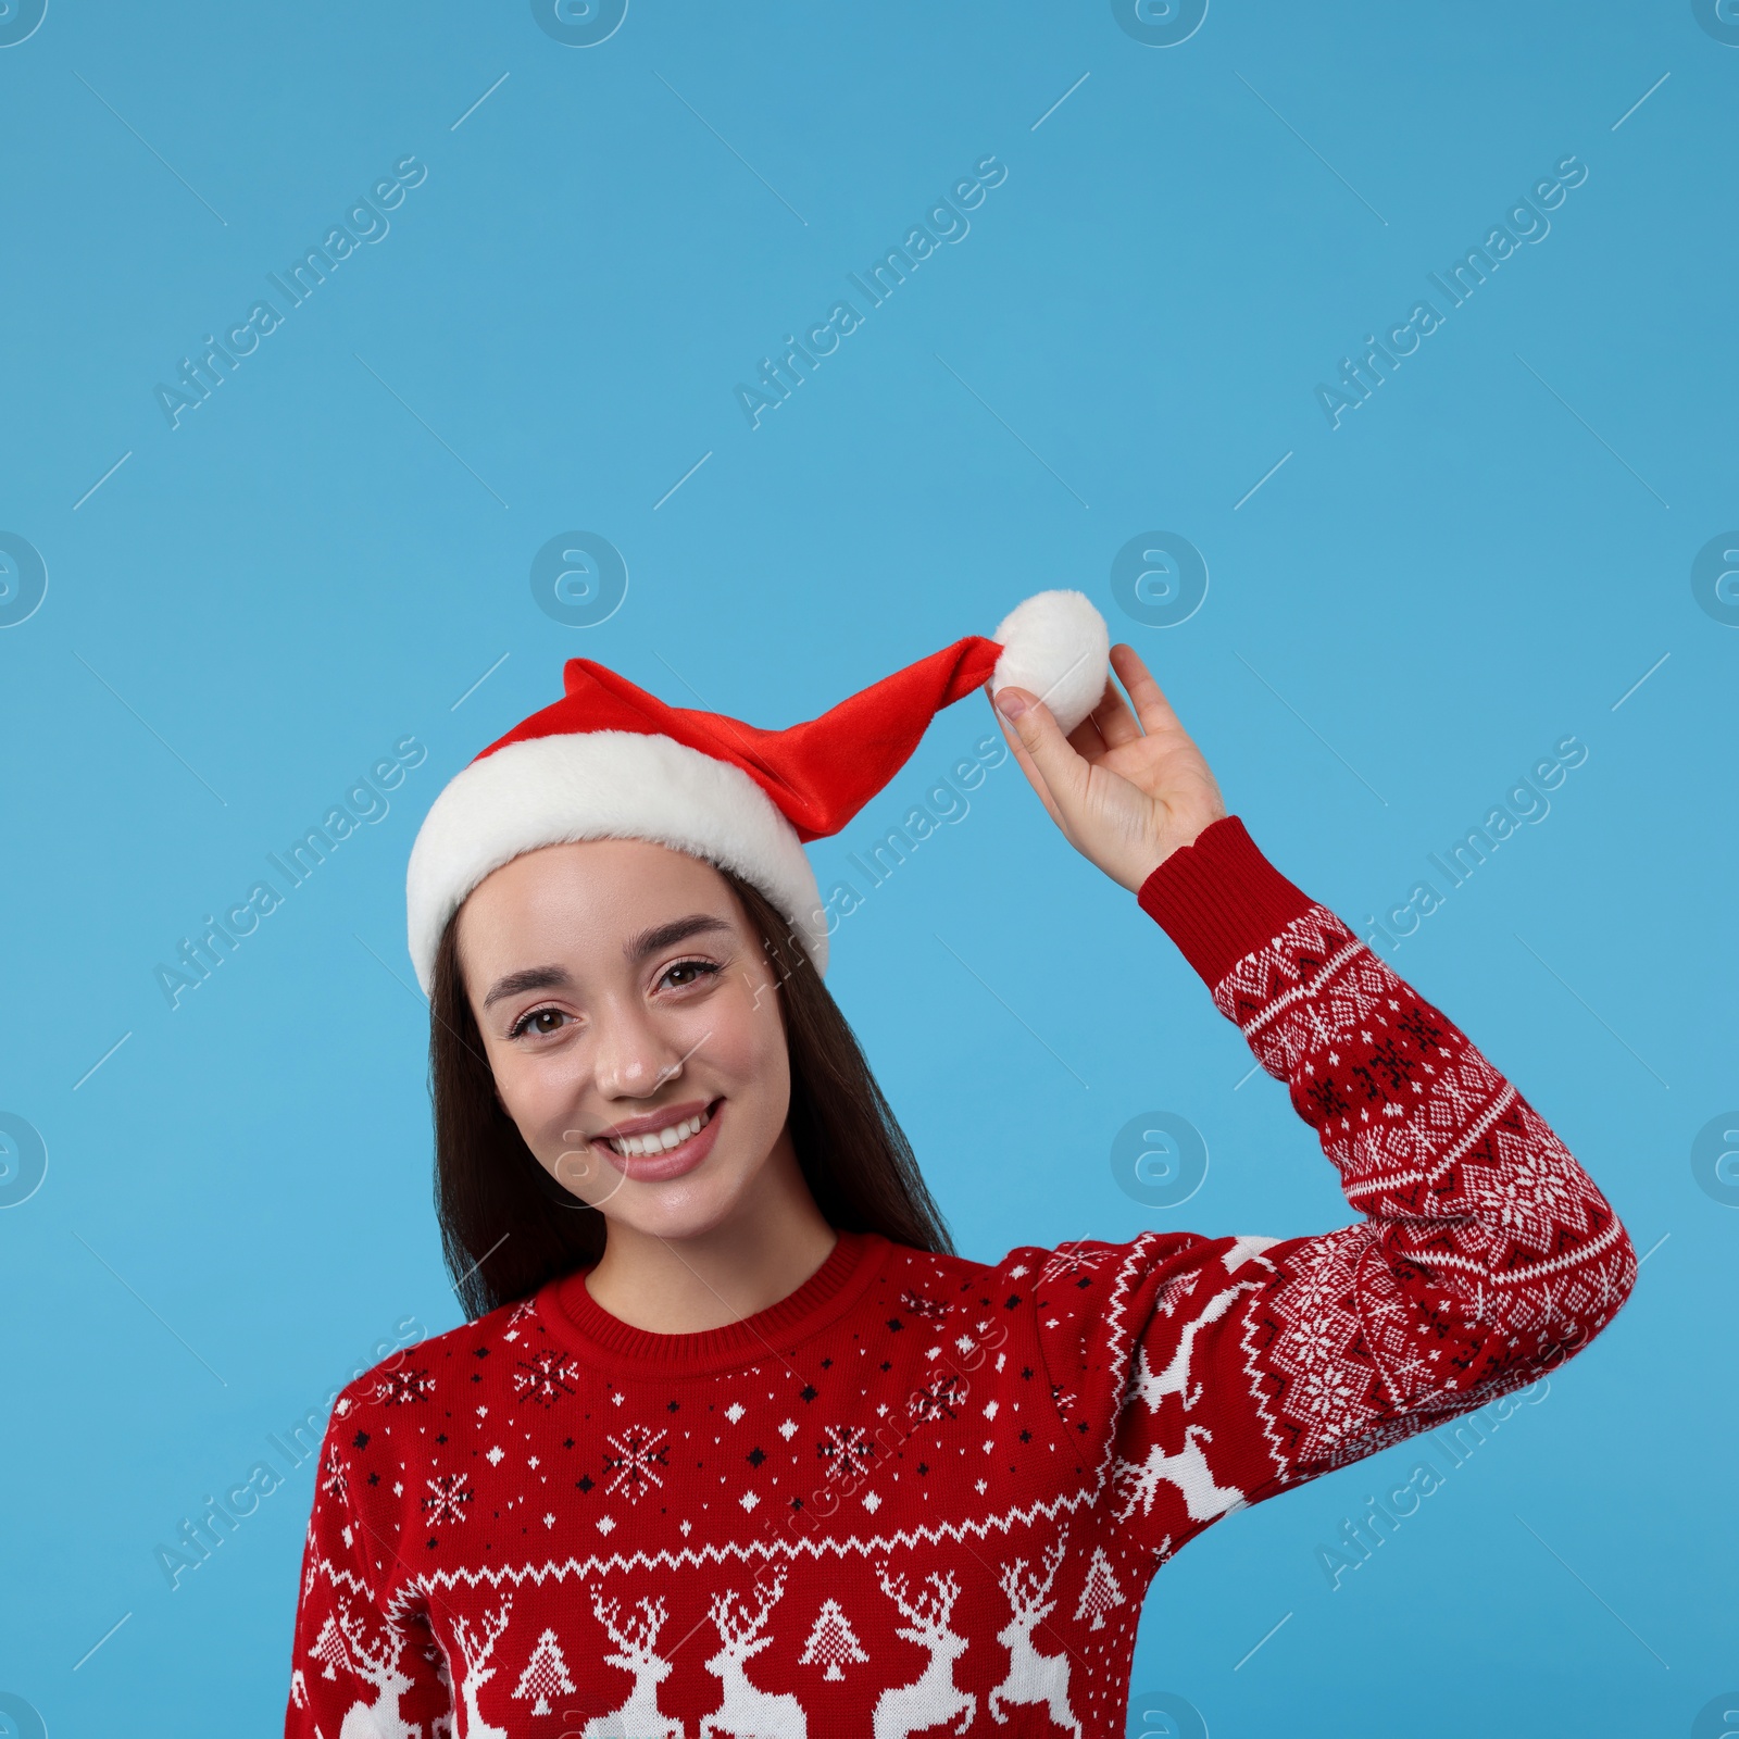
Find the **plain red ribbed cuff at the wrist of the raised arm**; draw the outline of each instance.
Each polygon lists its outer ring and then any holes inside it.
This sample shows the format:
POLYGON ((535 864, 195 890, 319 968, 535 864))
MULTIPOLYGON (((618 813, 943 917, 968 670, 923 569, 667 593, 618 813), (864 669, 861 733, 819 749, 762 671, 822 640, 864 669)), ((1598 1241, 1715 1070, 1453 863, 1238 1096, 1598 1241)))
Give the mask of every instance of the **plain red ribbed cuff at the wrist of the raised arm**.
POLYGON ((1315 904, 1257 850, 1236 816, 1172 852, 1136 899, 1209 989, 1315 904))

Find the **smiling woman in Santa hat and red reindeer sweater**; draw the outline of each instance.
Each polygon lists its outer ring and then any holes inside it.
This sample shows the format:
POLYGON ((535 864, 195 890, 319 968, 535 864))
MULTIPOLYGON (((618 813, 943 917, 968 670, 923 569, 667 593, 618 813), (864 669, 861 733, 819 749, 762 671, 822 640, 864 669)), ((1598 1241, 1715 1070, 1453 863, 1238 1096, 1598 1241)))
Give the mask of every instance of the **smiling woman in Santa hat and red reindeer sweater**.
POLYGON ((1628 1296, 1582 1169, 1268 864, 1078 593, 786 732, 565 675, 412 854, 473 1320, 334 1407, 289 1734, 1109 1739, 1181 1546, 1536 1381, 1628 1296), (953 1252, 823 988, 802 842, 981 685, 1362 1219, 953 1252))

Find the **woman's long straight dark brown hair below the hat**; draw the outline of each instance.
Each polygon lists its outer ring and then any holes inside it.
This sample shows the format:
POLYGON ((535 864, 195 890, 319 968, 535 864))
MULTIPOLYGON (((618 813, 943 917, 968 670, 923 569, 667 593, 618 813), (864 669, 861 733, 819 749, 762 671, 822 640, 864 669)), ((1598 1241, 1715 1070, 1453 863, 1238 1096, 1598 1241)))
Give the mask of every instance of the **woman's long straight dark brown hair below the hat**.
MULTIPOLYGON (((941 1210, 857 1036, 802 941, 760 889, 718 871, 760 934, 779 981, 791 1059, 790 1129, 830 1226, 953 1254, 941 1210)), ((537 1163, 496 1097, 496 1078, 459 967, 459 915, 447 922, 430 995, 435 1214, 447 1273, 468 1316, 529 1297, 603 1254, 603 1214, 537 1163)))

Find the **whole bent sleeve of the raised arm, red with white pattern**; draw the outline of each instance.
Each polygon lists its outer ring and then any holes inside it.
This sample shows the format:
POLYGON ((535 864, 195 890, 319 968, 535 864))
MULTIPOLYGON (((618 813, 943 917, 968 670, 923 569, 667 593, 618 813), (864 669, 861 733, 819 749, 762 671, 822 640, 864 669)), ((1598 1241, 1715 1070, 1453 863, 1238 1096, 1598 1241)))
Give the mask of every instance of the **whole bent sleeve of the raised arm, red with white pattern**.
POLYGON ((1536 1381, 1628 1297, 1631 1242, 1539 1113, 1231 816, 1141 887, 1287 1083, 1362 1217, 1052 1256, 1064 1424, 1158 1558, 1233 1509, 1536 1381))

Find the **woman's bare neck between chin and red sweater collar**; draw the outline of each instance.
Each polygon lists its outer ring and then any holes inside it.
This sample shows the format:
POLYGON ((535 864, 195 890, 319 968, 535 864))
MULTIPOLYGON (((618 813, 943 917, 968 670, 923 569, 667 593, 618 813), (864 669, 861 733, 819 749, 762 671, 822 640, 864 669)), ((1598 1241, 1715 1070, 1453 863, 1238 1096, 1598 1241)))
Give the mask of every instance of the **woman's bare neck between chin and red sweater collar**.
POLYGON ((720 1224, 671 1238, 610 1221, 584 1285, 595 1304, 631 1329, 701 1334, 790 1297, 836 1240, 783 1134, 755 1188, 720 1224))

